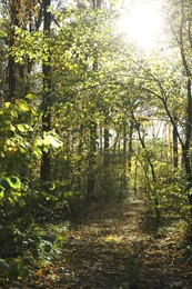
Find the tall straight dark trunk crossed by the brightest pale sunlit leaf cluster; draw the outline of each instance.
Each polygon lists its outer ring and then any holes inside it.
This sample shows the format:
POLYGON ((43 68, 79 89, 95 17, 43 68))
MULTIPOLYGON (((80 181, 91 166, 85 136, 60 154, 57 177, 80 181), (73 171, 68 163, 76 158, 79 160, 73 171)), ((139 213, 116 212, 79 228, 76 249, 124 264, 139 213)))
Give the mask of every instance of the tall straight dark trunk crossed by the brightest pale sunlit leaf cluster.
MULTIPOLYGON (((48 8, 51 3, 51 0, 43 1, 44 8, 44 22, 43 22, 43 32, 44 36, 50 36, 50 27, 51 27, 51 14, 48 11, 48 8)), ((50 66, 50 57, 48 61, 42 66, 43 72, 43 94, 42 94, 42 133, 48 132, 51 129, 51 66, 50 66)), ((41 159, 41 180, 50 180, 50 151, 42 151, 41 159)))

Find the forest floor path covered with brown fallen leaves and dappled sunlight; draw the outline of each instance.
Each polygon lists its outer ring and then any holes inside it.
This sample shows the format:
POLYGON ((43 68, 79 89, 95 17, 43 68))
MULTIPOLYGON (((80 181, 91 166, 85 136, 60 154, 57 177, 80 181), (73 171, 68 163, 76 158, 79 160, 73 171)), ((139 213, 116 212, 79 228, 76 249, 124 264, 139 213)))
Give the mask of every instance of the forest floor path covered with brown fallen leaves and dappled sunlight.
POLYGON ((152 231, 140 200, 92 208, 69 230, 60 259, 22 288, 190 289, 192 247, 182 231, 179 221, 152 231))

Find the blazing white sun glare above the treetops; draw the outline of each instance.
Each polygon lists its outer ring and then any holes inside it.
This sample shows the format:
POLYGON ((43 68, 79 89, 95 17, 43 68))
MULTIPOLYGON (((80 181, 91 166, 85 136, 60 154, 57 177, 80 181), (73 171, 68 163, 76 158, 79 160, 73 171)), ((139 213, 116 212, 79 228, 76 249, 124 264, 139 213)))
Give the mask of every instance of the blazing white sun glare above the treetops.
POLYGON ((120 31, 142 49, 151 49, 162 30, 162 16, 152 4, 135 4, 124 13, 119 23, 120 31))

